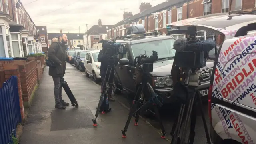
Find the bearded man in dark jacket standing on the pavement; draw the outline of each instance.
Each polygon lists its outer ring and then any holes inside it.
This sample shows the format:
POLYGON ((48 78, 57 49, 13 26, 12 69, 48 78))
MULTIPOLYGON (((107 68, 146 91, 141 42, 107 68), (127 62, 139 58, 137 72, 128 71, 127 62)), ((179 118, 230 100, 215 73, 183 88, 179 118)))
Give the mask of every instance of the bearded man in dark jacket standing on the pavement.
POLYGON ((49 68, 49 75, 52 76, 54 82, 55 108, 65 109, 69 103, 62 100, 61 78, 65 74, 65 61, 71 60, 72 57, 66 54, 65 44, 68 42, 66 34, 59 39, 61 39, 60 42, 53 42, 48 49, 48 58, 56 64, 56 67, 49 68))

